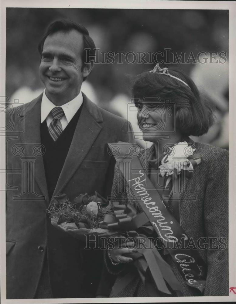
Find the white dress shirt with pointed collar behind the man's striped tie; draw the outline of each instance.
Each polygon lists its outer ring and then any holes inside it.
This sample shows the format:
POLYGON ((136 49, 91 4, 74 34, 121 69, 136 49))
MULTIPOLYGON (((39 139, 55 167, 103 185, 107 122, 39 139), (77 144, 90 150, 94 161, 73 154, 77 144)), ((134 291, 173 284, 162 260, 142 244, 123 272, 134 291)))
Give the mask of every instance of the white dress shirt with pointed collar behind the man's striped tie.
MULTIPOLYGON (((63 117, 60 119, 62 130, 65 129, 65 127, 68 125, 70 120, 73 118, 75 113, 78 111, 78 109, 81 107, 83 103, 83 96, 80 91, 79 95, 77 95, 74 99, 71 101, 65 103, 64 105, 61 105, 60 107, 63 109, 64 114, 63 117)), ((41 103, 41 123, 44 122, 46 119, 47 126, 50 125, 51 121, 53 120, 53 117, 51 115, 51 111, 53 108, 55 108, 56 105, 54 105, 46 96, 45 90, 43 91, 43 97, 42 97, 42 103, 41 103)))

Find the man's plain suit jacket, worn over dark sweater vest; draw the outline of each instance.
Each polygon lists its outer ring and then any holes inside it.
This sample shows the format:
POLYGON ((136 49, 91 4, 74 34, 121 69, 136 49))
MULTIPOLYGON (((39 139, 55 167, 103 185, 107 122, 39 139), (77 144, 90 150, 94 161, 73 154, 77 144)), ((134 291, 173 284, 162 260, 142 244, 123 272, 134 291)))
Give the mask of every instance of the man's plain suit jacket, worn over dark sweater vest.
MULTIPOLYGON (((132 127, 92 103, 85 95, 54 195, 73 200, 80 193, 109 195, 114 163, 107 142, 133 142, 132 127)), ((6 271, 7 299, 33 298, 47 252, 54 298, 94 297, 101 255, 84 252, 84 244, 54 231, 46 209, 50 201, 40 143, 42 95, 15 108, 6 138, 6 271), (19 112, 19 113, 18 113, 19 112), (97 259, 96 259, 97 256, 97 259)))

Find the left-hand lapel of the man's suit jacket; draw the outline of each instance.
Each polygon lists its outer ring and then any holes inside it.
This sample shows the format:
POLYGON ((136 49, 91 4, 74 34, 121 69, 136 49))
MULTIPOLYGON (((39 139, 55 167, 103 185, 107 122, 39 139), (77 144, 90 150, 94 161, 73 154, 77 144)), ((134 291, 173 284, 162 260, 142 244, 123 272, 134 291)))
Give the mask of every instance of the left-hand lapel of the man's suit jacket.
MULTIPOLYGON (((21 115, 22 118, 19 119, 19 130, 23 130, 23 132, 20 133, 22 148, 24 150, 23 157, 28 158, 29 161, 33 159, 36 160, 35 180, 42 194, 45 196, 46 201, 49 201, 42 156, 43 146, 41 145, 40 138, 42 96, 43 94, 34 99, 21 115)), ((32 170, 32 168, 30 169, 32 170)))

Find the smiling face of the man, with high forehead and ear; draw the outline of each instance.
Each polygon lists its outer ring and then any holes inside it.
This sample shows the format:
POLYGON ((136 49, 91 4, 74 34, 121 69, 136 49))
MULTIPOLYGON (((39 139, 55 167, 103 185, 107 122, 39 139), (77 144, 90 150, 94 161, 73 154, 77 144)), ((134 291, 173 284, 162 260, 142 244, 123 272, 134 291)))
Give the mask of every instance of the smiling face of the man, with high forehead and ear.
POLYGON ((74 99, 80 92, 83 77, 90 71, 82 68, 83 35, 76 30, 47 36, 42 52, 39 75, 47 97, 56 105, 74 99))

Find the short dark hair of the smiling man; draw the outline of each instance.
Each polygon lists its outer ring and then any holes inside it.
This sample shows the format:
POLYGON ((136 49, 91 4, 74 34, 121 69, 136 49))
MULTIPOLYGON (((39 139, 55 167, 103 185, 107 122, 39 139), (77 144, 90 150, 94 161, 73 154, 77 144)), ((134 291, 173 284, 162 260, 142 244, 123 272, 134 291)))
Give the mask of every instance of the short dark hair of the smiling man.
MULTIPOLYGON (((44 41, 46 40, 47 36, 60 32, 60 31, 67 33, 73 29, 75 29, 79 33, 83 34, 84 50, 83 50, 83 53, 81 54, 81 59, 83 62, 82 68, 84 67, 85 62, 88 63, 88 62, 90 62, 90 60, 95 61, 96 47, 95 47, 93 39, 89 36, 88 30, 82 24, 78 24, 74 21, 67 20, 67 19, 60 19, 60 20, 56 20, 56 21, 53 21, 52 23, 50 23, 50 25, 46 29, 46 32, 44 33, 44 35, 38 45, 38 50, 39 50, 40 56, 42 57, 43 45, 44 45, 44 41), (85 50, 85 49, 87 49, 87 50, 85 50), (89 55, 88 57, 87 57, 87 54, 89 55)), ((84 77, 83 81, 86 78, 87 77, 84 77)))

